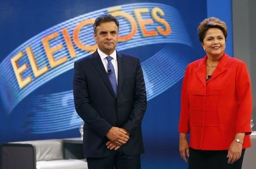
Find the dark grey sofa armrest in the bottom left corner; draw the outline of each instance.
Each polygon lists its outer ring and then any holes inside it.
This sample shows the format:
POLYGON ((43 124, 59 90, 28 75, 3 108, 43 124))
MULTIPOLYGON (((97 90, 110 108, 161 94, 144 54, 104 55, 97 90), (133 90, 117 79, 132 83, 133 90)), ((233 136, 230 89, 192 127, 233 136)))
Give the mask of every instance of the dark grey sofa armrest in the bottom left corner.
POLYGON ((1 145, 0 169, 36 169, 35 147, 27 143, 1 145))

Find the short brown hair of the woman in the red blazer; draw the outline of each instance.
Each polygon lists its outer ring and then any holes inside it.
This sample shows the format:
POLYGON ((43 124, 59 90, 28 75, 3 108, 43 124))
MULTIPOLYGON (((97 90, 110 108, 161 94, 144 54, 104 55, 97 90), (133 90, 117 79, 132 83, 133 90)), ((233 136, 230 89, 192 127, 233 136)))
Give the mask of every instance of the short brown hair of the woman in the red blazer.
POLYGON ((198 33, 200 43, 203 43, 205 33, 208 31, 209 28, 220 29, 226 40, 226 37, 228 36, 228 27, 226 26, 226 23, 218 18, 210 17, 210 18, 204 19, 197 27, 197 33, 198 33))

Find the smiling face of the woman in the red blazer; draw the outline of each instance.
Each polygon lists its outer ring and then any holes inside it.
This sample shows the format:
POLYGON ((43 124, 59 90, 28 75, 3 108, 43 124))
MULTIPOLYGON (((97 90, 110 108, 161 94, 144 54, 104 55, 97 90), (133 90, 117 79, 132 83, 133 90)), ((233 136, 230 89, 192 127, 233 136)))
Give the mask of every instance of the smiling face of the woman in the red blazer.
POLYGON ((221 29, 209 28, 201 45, 208 57, 221 57, 226 47, 225 36, 221 29))

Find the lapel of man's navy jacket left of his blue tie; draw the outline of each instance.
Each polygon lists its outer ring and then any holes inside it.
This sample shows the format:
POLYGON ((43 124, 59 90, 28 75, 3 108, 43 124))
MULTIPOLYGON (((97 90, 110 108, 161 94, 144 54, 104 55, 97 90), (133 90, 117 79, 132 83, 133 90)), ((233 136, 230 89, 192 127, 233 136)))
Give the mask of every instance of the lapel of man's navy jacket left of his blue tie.
POLYGON ((96 67, 98 73, 100 74, 102 80, 106 84, 106 87, 108 87, 110 93, 114 96, 114 98, 116 98, 112 84, 109 81, 108 73, 106 73, 105 67, 102 64, 101 57, 98 54, 97 50, 93 53, 93 64, 96 67))

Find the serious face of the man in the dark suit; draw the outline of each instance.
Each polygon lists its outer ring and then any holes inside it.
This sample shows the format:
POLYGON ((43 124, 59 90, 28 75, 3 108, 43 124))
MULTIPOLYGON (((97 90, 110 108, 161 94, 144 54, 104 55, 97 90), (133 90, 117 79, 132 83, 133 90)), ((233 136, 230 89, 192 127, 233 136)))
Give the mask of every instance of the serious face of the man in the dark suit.
POLYGON ((118 42, 118 27, 115 22, 104 22, 96 27, 94 40, 103 53, 112 54, 118 42))

